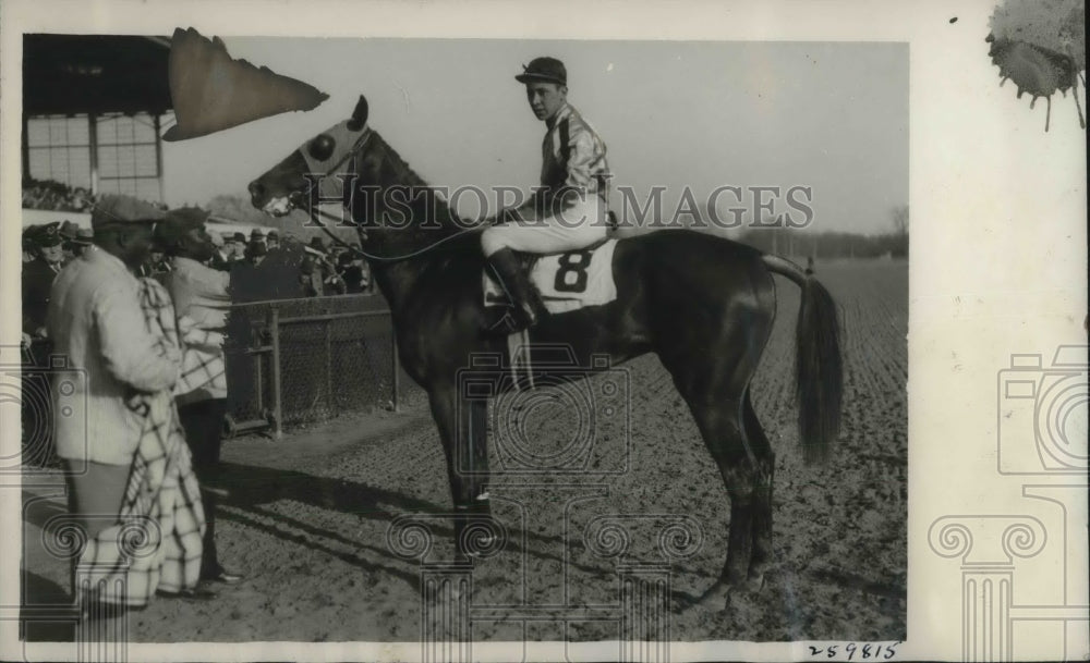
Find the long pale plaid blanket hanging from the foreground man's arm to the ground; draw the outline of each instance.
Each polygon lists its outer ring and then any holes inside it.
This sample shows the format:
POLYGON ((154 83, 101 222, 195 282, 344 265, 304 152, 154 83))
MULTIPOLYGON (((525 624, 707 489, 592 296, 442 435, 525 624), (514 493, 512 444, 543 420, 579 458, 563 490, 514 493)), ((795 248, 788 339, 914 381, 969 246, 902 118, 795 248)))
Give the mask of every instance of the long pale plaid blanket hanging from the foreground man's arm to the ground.
MULTIPOLYGON (((141 305, 164 356, 181 361, 170 295, 141 279, 141 305)), ((195 587, 205 529, 201 488, 170 390, 135 394, 128 405, 143 419, 121 515, 87 542, 76 564, 76 597, 144 605, 157 589, 195 587)))

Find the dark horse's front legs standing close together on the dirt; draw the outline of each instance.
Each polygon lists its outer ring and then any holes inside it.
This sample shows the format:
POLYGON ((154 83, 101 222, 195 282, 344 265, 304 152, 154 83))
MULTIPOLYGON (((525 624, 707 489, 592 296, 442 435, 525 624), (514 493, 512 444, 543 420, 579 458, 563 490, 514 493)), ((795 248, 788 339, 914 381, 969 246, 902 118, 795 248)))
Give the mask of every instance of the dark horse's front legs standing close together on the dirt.
POLYGON ((447 478, 455 504, 456 558, 467 561, 489 539, 477 531, 467 536, 471 523, 491 520, 488 481, 487 401, 463 398, 457 389, 431 394, 432 416, 439 429, 447 461, 447 478))

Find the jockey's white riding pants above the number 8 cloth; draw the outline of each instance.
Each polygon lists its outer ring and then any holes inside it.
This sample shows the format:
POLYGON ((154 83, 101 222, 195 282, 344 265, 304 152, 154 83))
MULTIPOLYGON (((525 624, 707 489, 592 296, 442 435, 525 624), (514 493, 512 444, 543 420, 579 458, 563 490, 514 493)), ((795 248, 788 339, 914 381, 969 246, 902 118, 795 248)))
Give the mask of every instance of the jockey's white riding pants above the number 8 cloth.
POLYGON ((609 233, 606 206, 597 196, 562 212, 493 225, 481 234, 485 257, 502 248, 529 254, 558 254, 590 246, 609 233))

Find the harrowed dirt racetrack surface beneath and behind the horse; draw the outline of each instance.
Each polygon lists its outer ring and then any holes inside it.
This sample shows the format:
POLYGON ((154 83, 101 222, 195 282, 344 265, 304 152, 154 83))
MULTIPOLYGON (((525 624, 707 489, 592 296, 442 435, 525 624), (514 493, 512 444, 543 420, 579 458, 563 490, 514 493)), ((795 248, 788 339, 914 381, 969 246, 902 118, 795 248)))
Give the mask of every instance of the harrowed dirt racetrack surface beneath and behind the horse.
MULTIPOLYGON (((798 290, 777 280, 779 318, 753 392, 777 453, 775 564, 760 593, 736 598, 724 612, 674 614, 674 639, 905 638, 908 269, 904 262, 828 266, 820 275, 843 307, 847 330, 846 412, 834 459, 807 468, 796 450, 790 369, 798 290)), ((657 359, 642 357, 625 369, 632 384, 629 451, 618 445, 626 439, 623 421, 600 414, 594 430, 608 440, 597 466, 566 476, 498 477, 522 488, 493 490, 495 515, 511 539, 477 563, 474 604, 616 602, 618 558, 583 538, 606 514, 688 514, 702 541, 673 567, 673 589, 680 597, 699 594, 716 578, 729 517, 718 471, 657 359), (606 474, 618 467, 619 474, 606 474), (526 489, 530 483, 545 487, 526 489)), ((584 385, 593 391, 604 379, 584 385)), ((131 637, 417 639, 420 563, 393 554, 387 531, 403 514, 447 512, 450 500, 437 433, 422 404, 410 405, 405 414, 344 418, 280 442, 228 443, 233 488, 221 509, 221 557, 247 579, 209 603, 159 600, 133 615, 131 637)), ((532 431, 524 444, 537 445, 531 452, 566 453, 578 408, 564 394, 522 407, 532 431)), ((494 412, 500 415, 494 426, 504 428, 507 410, 494 412)), ((501 469, 502 450, 495 442, 492 449, 494 469, 501 469)), ((654 523, 630 521, 635 525, 620 561, 662 558, 654 523)), ((449 526, 438 523, 434 530, 428 561, 450 550, 449 526)), ((606 536, 600 543, 608 548, 616 540, 606 536)), ((62 577, 58 569, 36 573, 46 584, 62 577)), ((521 639, 520 628, 482 621, 473 633, 477 639, 521 639)), ((528 636, 559 639, 562 633, 546 623, 528 636)), ((615 639, 617 630, 588 621, 571 625, 568 637, 615 639)))

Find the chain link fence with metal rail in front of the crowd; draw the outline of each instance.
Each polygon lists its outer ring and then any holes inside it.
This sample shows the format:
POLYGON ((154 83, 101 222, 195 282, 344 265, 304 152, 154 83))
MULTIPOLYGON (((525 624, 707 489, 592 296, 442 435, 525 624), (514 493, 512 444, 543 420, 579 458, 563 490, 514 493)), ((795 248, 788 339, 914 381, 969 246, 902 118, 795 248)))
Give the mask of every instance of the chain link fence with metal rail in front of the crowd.
POLYGON ((398 409, 423 392, 401 370, 378 295, 234 305, 225 345, 229 428, 287 428, 398 409))

